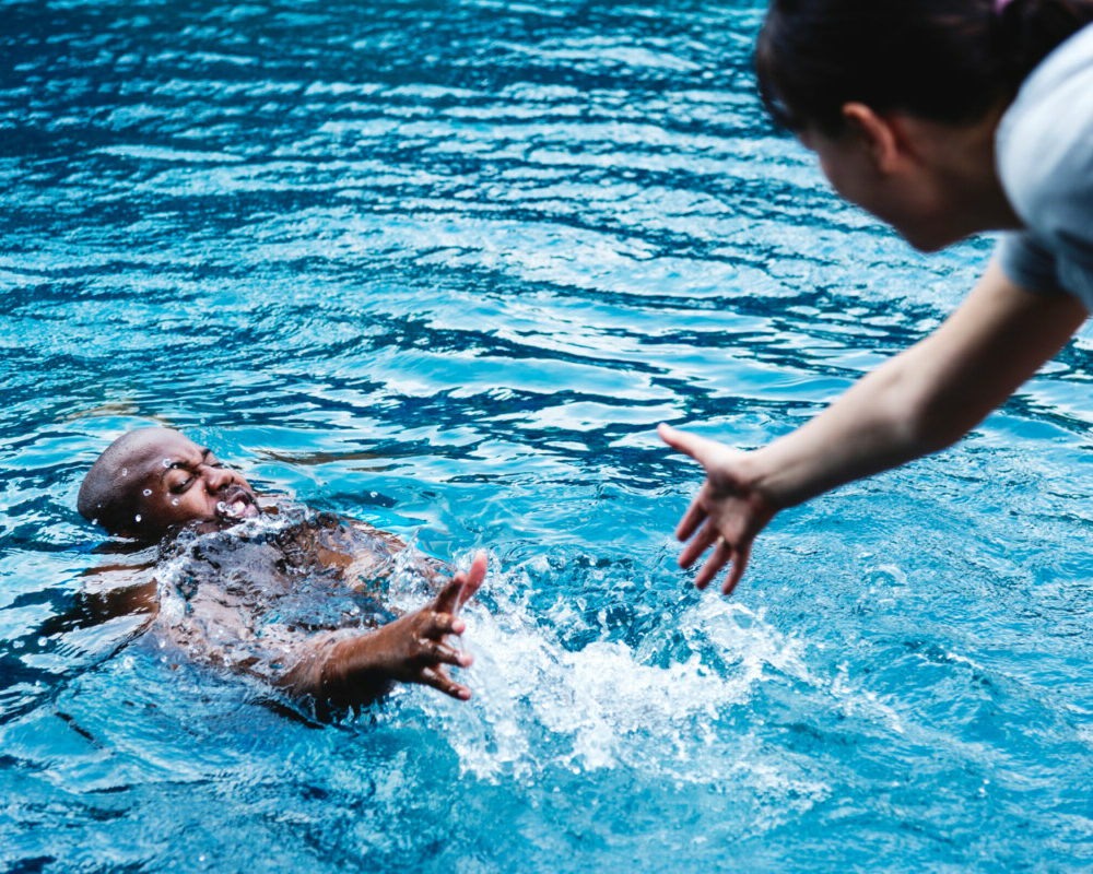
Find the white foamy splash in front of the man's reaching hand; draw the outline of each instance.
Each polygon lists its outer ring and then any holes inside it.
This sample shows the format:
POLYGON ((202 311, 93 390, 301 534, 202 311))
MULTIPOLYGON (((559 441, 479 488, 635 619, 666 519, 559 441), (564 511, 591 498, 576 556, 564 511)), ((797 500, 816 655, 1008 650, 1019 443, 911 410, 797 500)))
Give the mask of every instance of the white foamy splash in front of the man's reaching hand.
MULTIPOLYGON (((544 629, 543 617, 532 615, 519 594, 530 586, 520 574, 491 575, 486 588, 496 612, 480 603, 465 610, 465 638, 475 658, 459 672, 474 693, 469 705, 451 705, 430 690, 403 693, 443 727, 462 773, 506 782, 536 781, 557 767, 575 773, 623 769, 681 787, 749 787, 798 810, 826 798, 824 783, 731 725, 766 672, 813 682, 800 641, 760 613, 704 598, 665 617, 695 641, 684 661, 619 640, 572 650, 550 625, 573 630, 579 614, 560 600, 544 629)), ((663 642, 663 635, 656 637, 663 642)))

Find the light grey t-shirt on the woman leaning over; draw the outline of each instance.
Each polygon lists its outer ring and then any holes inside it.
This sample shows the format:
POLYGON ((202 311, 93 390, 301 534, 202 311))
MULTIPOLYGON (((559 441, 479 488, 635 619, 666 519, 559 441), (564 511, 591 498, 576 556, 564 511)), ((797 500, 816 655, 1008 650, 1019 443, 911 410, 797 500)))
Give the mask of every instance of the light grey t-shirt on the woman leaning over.
POLYGON ((1021 86, 995 137, 1002 188, 1024 229, 998 245, 1006 275, 1093 310, 1093 25, 1021 86))

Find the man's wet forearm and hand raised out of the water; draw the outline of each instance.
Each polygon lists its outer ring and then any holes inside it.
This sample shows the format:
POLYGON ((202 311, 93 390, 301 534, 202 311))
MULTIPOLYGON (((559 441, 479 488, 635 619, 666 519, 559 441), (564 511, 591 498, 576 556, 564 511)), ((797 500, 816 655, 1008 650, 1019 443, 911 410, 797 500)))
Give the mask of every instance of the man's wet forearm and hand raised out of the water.
POLYGON ((457 572, 432 602, 371 634, 338 641, 321 669, 322 697, 352 702, 375 696, 391 680, 432 686, 466 701, 471 690, 448 676, 446 665, 467 668, 472 659, 451 646, 463 633, 459 610, 485 578, 486 556, 474 556, 470 570, 457 572))

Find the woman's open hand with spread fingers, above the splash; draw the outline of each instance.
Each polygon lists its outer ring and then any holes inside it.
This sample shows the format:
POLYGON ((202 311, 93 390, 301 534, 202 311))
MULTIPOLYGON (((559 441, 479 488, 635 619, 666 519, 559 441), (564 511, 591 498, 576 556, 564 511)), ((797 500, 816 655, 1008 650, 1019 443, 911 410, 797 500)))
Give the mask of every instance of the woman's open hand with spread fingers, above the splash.
POLYGON ((680 567, 691 567, 713 546, 713 552, 695 577, 695 586, 705 589, 731 562, 721 587, 721 591, 729 594, 737 588, 748 566, 752 541, 778 508, 752 482, 748 473, 747 452, 729 449, 724 444, 677 430, 669 425, 660 425, 657 433, 672 449, 691 456, 706 470, 706 482, 675 529, 680 541, 694 535, 680 553, 680 567))

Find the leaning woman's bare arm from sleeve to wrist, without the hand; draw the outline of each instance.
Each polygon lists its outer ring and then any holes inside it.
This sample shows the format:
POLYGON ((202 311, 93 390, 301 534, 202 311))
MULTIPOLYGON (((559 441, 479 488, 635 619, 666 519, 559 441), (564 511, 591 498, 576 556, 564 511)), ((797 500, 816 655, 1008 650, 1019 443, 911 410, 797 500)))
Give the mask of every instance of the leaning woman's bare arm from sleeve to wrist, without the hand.
POLYGON ((1032 295, 991 265, 935 333, 741 463, 773 506, 787 507, 943 449, 1058 352, 1085 315, 1073 298, 1032 295))

